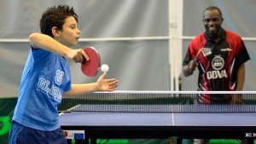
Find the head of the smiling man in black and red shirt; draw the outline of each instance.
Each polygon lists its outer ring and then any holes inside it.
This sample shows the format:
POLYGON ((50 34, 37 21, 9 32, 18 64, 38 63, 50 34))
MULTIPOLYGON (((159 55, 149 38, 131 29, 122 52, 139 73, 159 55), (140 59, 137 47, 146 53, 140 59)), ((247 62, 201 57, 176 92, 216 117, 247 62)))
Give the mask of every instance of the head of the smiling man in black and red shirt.
POLYGON ((208 7, 203 12, 203 23, 207 33, 212 38, 218 38, 221 34, 221 25, 223 22, 221 10, 217 7, 208 7))

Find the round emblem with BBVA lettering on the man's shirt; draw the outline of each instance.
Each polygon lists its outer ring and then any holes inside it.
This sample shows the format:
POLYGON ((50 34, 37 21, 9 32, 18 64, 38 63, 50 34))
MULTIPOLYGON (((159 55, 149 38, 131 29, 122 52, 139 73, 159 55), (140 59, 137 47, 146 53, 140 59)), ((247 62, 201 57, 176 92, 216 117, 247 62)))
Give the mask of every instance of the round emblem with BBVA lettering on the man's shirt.
POLYGON ((224 67, 224 59, 220 55, 214 55, 212 59, 212 68, 215 71, 207 72, 207 79, 216 79, 216 78, 228 78, 227 72, 221 70, 224 67))

